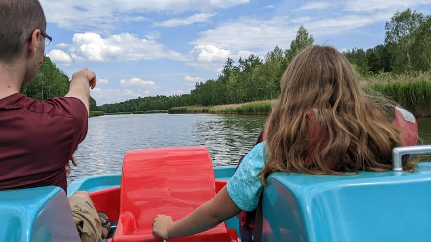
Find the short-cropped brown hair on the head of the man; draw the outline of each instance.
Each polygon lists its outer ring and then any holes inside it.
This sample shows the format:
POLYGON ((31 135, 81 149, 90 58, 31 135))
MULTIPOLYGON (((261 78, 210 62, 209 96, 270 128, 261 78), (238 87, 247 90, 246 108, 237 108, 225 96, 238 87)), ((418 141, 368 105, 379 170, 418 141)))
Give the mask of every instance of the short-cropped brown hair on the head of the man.
POLYGON ((14 61, 33 31, 46 28, 39 0, 0 0, 0 61, 14 61))

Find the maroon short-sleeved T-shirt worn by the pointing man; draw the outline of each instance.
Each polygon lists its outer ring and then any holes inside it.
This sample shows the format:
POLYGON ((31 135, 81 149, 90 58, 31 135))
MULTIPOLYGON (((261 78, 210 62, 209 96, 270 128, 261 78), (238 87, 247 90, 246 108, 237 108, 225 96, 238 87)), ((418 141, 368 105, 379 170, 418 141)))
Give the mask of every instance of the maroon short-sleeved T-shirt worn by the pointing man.
POLYGON ((0 190, 54 185, 67 192, 64 167, 87 134, 78 98, 47 102, 16 93, 0 99, 0 190))

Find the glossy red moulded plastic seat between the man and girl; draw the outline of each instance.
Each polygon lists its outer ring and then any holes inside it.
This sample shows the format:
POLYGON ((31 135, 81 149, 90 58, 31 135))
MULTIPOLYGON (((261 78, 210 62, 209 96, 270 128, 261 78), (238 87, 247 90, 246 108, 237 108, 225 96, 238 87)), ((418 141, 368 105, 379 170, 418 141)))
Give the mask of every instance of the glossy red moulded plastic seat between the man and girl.
MULTIPOLYGON (((157 214, 179 220, 216 195, 205 147, 129 151, 124 157, 120 217, 112 242, 161 242, 152 235, 157 214)), ((232 242, 236 234, 221 223, 206 232, 169 242, 232 242), (231 234, 233 239, 231 239, 231 234)))

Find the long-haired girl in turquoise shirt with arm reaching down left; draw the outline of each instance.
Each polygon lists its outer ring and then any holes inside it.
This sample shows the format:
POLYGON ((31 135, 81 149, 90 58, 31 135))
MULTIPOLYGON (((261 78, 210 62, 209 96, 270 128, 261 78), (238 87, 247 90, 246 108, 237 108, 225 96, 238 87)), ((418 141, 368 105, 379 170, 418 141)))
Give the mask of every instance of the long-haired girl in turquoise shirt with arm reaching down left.
MULTIPOLYGON (((400 113, 407 113, 405 120, 412 123, 414 117, 411 120, 406 110, 362 93, 352 66, 332 47, 302 51, 280 86, 265 126, 266 141, 245 156, 227 186, 210 201, 176 222, 158 215, 153 221, 155 236, 196 234, 241 210, 256 209, 266 178, 274 172, 383 172, 392 167, 394 147, 416 144, 417 132, 393 124, 400 113)), ((414 163, 404 157, 403 168, 412 171, 414 163)))

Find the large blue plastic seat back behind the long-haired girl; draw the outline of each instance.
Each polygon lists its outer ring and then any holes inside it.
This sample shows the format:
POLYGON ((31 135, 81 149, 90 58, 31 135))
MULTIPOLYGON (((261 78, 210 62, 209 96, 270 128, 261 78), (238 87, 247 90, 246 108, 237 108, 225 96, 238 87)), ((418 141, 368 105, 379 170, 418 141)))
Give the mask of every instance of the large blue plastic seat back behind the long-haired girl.
POLYGON ((263 241, 431 241, 431 162, 415 169, 272 174, 263 193, 263 241))

